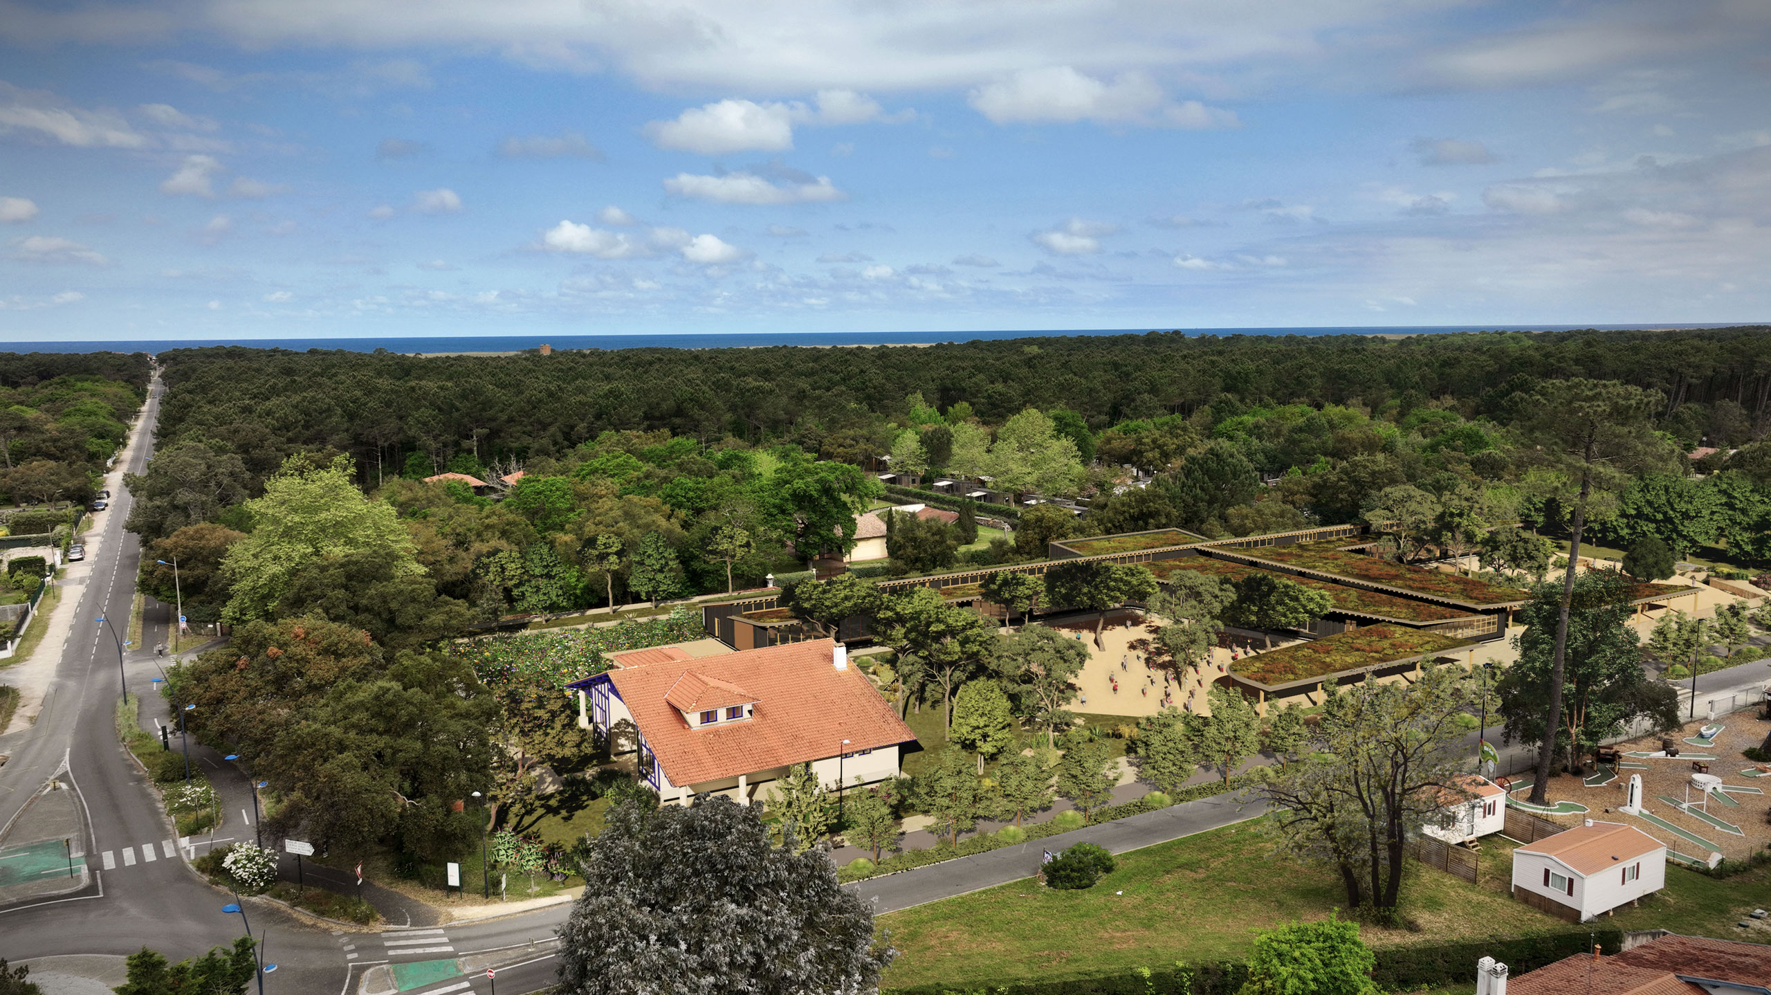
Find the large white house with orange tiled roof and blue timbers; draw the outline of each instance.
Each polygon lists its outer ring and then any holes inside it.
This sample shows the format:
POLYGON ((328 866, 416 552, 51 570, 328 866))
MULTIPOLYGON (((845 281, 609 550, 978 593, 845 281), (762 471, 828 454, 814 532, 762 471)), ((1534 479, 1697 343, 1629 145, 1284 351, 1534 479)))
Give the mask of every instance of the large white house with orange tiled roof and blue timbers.
POLYGON ((767 800, 799 763, 832 790, 873 784, 896 777, 916 742, 832 639, 696 659, 641 650, 615 662, 568 685, 579 724, 611 752, 636 754, 639 779, 666 804, 767 800))

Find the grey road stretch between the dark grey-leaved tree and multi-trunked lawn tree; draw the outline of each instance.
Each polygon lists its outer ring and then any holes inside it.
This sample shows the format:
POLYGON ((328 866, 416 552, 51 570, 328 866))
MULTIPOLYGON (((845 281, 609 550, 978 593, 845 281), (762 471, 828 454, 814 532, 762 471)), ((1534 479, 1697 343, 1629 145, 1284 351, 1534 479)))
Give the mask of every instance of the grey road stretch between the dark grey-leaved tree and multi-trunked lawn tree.
POLYGON ((1259 798, 1241 800, 1243 791, 1181 802, 1153 813, 1142 813, 1116 821, 1087 825, 1045 839, 1029 839, 972 857, 958 857, 928 864, 896 875, 884 875, 843 885, 873 903, 873 912, 898 912, 942 898, 953 898, 986 887, 1031 878, 1040 871, 1047 850, 1059 852, 1073 843, 1094 843, 1112 853, 1167 843, 1195 832, 1222 829, 1238 821, 1259 818, 1266 804, 1259 798))

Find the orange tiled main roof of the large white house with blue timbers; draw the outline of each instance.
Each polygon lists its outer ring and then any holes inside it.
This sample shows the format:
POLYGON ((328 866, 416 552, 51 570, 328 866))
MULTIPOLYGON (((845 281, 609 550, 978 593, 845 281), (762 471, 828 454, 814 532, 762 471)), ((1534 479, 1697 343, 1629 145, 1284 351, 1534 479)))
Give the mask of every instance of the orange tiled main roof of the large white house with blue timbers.
POLYGON ((689 728, 664 699, 689 666, 650 664, 607 676, 671 784, 701 784, 914 740, 916 733, 866 675, 831 664, 832 648, 829 639, 813 639, 694 660, 692 671, 701 680, 754 696, 751 719, 730 726, 689 728))

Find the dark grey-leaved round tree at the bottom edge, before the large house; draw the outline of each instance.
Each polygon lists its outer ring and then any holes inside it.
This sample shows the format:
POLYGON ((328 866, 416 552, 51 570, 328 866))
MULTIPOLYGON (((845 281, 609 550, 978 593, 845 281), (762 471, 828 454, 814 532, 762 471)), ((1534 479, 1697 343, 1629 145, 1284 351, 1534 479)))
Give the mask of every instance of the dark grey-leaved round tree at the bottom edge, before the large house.
POLYGON ((893 951, 822 852, 769 845, 728 798, 618 806, 581 859, 584 894, 560 928, 563 991, 871 991, 893 951))

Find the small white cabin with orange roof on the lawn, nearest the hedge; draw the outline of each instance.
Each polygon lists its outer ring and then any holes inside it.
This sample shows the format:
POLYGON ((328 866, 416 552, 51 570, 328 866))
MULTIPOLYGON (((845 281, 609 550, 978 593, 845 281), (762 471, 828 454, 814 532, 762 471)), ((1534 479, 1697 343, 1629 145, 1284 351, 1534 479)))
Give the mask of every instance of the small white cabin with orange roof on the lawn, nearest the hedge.
POLYGON ((1587 820, 1512 852, 1512 898, 1587 922, 1667 887, 1667 845, 1633 825, 1587 820))

